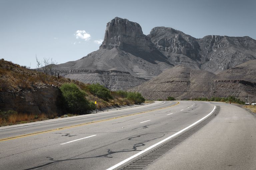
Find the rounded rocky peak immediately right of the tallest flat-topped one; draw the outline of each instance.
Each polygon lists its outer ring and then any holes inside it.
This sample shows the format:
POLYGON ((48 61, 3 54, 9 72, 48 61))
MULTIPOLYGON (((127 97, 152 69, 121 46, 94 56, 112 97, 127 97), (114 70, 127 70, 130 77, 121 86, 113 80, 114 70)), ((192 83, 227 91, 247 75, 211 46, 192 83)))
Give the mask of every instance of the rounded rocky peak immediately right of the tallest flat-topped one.
POLYGON ((170 63, 200 69, 202 57, 197 39, 181 31, 166 27, 155 27, 148 35, 156 48, 164 54, 170 63))

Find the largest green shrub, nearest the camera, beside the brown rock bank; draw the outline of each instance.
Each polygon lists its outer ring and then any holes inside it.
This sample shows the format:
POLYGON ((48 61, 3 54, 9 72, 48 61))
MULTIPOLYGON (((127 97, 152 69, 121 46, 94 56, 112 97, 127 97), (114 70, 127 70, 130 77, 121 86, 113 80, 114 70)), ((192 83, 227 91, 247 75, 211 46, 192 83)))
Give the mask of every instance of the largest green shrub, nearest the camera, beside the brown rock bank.
POLYGON ((92 109, 90 102, 85 99, 87 94, 74 83, 64 83, 60 86, 60 90, 69 112, 82 114, 92 109))

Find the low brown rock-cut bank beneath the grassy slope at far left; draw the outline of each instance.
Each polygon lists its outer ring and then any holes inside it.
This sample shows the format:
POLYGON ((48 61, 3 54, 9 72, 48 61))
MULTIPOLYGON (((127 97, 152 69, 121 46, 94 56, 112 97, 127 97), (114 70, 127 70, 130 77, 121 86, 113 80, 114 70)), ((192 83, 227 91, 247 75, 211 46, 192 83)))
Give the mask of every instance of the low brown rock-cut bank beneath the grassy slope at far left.
POLYGON ((59 88, 38 84, 34 90, 0 92, 0 110, 15 110, 19 113, 59 113, 61 100, 59 88))

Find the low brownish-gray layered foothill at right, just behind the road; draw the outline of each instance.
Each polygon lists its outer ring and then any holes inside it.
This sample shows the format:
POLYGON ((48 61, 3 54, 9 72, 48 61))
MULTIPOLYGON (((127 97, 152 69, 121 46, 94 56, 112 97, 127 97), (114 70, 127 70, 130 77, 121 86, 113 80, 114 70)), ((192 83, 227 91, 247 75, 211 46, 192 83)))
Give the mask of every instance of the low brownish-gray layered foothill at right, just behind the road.
POLYGON ((184 100, 235 96, 242 101, 247 98, 248 102, 256 102, 256 83, 239 79, 242 77, 229 77, 227 73, 233 70, 216 75, 209 71, 177 65, 131 91, 140 92, 149 100, 165 100, 167 97, 184 100))

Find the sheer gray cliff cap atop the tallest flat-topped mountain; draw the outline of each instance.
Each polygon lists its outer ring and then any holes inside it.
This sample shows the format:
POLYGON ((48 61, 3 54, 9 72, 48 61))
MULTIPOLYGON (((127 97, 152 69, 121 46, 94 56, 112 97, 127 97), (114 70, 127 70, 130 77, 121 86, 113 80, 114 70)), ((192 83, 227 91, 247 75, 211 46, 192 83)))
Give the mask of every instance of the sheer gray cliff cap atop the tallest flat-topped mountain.
POLYGON ((143 34, 138 23, 116 17, 107 23, 104 41, 100 49, 123 49, 125 48, 124 44, 146 52, 155 50, 154 44, 143 34))

